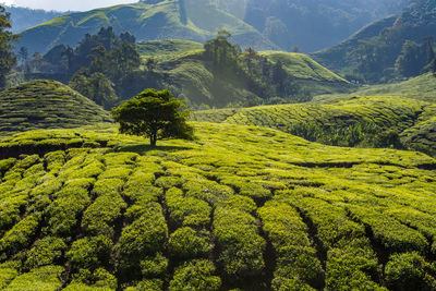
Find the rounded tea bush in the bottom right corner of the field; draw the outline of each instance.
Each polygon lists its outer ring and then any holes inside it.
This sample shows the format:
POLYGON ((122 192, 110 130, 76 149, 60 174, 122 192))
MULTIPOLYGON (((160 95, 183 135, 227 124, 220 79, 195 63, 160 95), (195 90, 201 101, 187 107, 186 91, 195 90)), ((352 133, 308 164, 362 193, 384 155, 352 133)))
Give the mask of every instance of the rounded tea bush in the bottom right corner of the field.
POLYGON ((436 267, 417 253, 395 254, 386 265, 386 283, 391 290, 435 290, 436 267))

